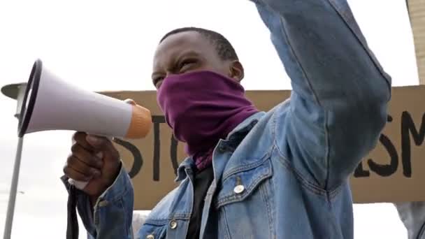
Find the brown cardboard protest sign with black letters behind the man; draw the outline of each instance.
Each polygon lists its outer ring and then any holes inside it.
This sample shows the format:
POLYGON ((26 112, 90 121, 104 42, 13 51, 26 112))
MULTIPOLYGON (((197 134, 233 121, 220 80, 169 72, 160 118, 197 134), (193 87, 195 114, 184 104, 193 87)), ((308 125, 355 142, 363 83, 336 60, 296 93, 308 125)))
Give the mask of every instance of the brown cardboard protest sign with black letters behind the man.
MULTIPOLYGON (((157 107, 156 92, 104 92, 134 99, 152 111, 153 129, 141 140, 119 140, 124 165, 134 184, 135 209, 150 210, 177 187, 175 170, 185 159, 157 107)), ((248 91, 260 110, 270 110, 290 91, 248 91)), ((380 142, 351 177, 355 203, 425 201, 425 86, 394 87, 387 126, 380 142)))

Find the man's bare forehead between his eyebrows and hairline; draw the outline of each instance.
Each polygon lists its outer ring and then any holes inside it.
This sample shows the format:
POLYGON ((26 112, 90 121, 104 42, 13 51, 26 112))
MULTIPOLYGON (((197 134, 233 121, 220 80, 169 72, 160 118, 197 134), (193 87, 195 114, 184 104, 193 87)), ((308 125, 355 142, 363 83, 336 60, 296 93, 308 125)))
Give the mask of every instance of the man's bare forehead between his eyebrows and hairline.
POLYGON ((195 53, 206 58, 217 55, 214 45, 205 36, 196 31, 183 31, 172 34, 159 43, 154 54, 154 68, 166 65, 168 61, 185 53, 195 53))

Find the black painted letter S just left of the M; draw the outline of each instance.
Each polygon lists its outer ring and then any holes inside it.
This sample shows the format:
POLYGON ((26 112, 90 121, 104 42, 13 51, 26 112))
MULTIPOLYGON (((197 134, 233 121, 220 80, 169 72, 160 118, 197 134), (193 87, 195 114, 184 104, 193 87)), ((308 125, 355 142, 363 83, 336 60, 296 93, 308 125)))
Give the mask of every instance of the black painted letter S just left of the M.
POLYGON ((375 172, 377 175, 380 175, 382 177, 389 177, 393 173, 396 173, 398 168, 397 150, 396 147, 394 147, 393 143, 391 143, 391 140, 389 140, 389 138, 384 134, 381 134, 380 142, 387 149, 391 161, 387 165, 380 165, 376 164, 372 159, 368 159, 368 166, 370 170, 375 172))

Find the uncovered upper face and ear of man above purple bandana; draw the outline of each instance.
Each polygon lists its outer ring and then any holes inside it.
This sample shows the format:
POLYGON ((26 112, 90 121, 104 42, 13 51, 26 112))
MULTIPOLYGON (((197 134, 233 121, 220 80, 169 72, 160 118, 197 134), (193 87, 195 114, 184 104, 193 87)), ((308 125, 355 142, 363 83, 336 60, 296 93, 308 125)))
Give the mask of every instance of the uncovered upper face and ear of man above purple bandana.
POLYGON ((240 63, 220 59, 215 46, 196 31, 173 34, 158 45, 152 71, 157 89, 168 75, 192 71, 214 71, 238 81, 243 78, 240 63))

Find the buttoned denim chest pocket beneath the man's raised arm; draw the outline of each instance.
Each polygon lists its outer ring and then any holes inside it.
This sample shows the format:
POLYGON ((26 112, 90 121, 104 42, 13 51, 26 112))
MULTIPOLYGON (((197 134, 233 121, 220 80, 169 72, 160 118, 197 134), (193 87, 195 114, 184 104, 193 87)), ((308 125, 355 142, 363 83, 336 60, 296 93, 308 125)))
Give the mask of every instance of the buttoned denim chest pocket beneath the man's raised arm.
POLYGON ((273 168, 270 159, 226 173, 215 196, 220 238, 271 238, 273 168))

